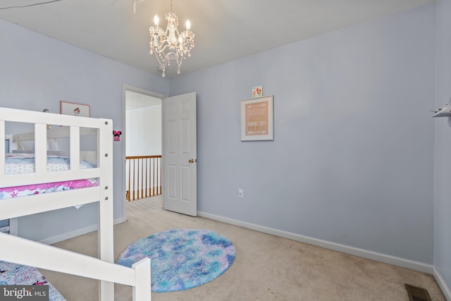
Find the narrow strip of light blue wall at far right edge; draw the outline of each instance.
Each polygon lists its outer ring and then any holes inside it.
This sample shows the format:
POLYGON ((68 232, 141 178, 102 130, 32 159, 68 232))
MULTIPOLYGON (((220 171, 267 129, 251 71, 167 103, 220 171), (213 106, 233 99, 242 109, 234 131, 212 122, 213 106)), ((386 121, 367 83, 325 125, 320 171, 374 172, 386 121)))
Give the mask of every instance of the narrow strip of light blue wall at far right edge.
MULTIPOLYGON (((435 108, 451 97, 451 1, 437 2, 437 90, 435 108)), ((434 267, 451 287, 451 123, 435 120, 435 227, 434 267)), ((448 290, 448 296, 451 297, 448 290)))

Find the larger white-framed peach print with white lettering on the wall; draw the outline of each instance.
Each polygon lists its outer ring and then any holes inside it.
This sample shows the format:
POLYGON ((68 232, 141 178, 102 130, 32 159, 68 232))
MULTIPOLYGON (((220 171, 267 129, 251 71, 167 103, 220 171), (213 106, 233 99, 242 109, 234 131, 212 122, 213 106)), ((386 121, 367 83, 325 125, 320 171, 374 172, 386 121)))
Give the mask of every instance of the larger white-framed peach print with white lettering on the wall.
POLYGON ((240 132, 241 141, 274 140, 273 95, 241 101, 240 132))

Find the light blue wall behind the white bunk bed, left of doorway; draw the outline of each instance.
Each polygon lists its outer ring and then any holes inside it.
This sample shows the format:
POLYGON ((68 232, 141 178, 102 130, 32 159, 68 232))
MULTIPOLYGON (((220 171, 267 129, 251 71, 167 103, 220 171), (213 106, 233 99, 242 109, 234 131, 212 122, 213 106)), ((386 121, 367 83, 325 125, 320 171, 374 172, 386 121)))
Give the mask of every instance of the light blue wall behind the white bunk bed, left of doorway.
MULTIPOLYGON (((123 84, 168 94, 168 81, 0 20, 0 106, 59 113, 59 101, 91 105, 91 116, 122 127, 123 84)), ((111 135, 111 139, 113 139, 111 135)), ((122 142, 114 142, 114 217, 123 216, 122 142)), ((97 206, 19 220, 19 234, 43 240, 97 223, 97 206), (68 222, 70 221, 70 222, 68 222)))

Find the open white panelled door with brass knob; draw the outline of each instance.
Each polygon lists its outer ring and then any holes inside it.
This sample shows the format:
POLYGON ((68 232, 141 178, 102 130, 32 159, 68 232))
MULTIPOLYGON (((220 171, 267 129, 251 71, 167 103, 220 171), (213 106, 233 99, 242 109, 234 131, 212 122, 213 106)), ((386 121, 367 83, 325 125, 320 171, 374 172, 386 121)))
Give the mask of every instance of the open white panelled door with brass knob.
POLYGON ((163 207, 197 216, 196 93, 163 99, 163 207))

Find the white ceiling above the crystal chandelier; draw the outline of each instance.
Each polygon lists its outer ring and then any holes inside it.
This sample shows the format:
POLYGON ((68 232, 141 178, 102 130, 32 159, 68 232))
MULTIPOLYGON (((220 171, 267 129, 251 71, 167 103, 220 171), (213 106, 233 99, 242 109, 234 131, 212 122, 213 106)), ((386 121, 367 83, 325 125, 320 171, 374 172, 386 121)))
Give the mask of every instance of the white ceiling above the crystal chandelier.
MULTIPOLYGON (((51 0, 1 0, 0 8, 51 0)), ((216 66, 260 51, 407 11, 434 0, 173 0, 179 28, 190 19, 196 35, 181 73, 216 66)), ((0 9, 0 18, 160 75, 149 54, 149 26, 171 0, 56 0, 25 8, 0 9)), ((34 47, 35 45, 30 45, 34 47)), ((166 77, 176 75, 175 65, 166 77)))

